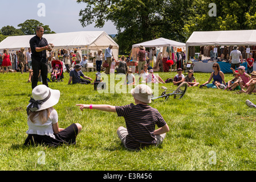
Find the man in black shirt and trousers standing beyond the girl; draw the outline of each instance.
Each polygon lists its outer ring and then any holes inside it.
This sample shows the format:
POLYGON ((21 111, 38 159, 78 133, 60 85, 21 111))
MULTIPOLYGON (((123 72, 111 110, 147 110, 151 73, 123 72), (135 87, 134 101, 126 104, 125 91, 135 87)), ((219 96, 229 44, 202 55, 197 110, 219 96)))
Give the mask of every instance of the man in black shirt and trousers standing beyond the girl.
POLYGON ((32 89, 37 86, 38 83, 38 75, 39 71, 42 76, 43 85, 48 86, 47 81, 47 57, 46 50, 51 51, 52 47, 49 46, 47 40, 43 38, 43 27, 36 27, 36 35, 30 39, 30 48, 32 52, 32 69, 33 69, 33 77, 32 77, 32 89), (49 46, 49 47, 48 47, 49 46))

